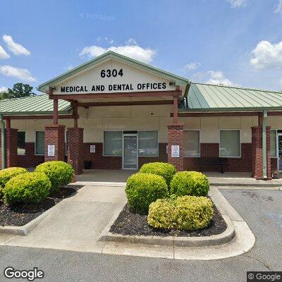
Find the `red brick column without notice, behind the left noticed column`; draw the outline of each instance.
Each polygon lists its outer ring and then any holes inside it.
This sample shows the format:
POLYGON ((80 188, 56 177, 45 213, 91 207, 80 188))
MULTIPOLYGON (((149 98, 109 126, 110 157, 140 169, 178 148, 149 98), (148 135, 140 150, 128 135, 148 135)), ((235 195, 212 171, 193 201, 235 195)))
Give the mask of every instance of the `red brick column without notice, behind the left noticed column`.
POLYGON ((73 166, 75 175, 82 173, 83 128, 68 128, 68 164, 73 166))

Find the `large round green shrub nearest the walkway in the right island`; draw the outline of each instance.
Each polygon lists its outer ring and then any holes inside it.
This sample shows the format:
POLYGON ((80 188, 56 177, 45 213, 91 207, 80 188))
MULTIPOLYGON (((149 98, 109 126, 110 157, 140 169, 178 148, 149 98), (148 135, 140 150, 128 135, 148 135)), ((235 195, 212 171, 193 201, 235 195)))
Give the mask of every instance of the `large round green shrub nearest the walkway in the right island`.
POLYGON ((168 197, 166 181, 150 173, 135 173, 130 176, 125 188, 128 205, 133 212, 147 214, 149 204, 168 197))

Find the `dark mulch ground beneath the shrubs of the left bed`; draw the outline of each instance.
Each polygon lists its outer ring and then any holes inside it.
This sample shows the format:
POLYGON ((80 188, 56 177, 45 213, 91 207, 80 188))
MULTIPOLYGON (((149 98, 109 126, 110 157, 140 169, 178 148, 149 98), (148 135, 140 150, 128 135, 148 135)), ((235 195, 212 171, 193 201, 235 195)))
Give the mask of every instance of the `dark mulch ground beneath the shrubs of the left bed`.
POLYGON ((66 185, 60 188, 58 193, 49 195, 46 200, 39 204, 17 204, 14 207, 8 207, 0 199, 0 226, 23 226, 66 197, 75 195, 82 187, 83 185, 66 185))

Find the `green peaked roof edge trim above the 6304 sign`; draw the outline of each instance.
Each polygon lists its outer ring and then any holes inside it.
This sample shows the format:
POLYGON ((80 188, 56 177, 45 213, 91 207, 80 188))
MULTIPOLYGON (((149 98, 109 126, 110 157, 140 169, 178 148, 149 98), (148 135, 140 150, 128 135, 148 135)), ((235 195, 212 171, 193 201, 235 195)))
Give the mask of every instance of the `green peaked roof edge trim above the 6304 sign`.
POLYGON ((54 87, 57 84, 59 84, 59 82, 61 82, 62 80, 71 78, 71 76, 79 73, 80 71, 85 71, 87 68, 93 67, 109 59, 115 59, 123 63, 128 63, 128 65, 130 66, 135 66, 136 68, 140 68, 150 73, 154 73, 155 75, 159 75, 162 78, 166 78, 168 80, 172 80, 176 82, 176 85, 187 85, 189 83, 189 80, 187 78, 182 78, 178 75, 174 75, 173 73, 169 73, 168 71, 163 71, 160 68, 150 66, 147 63, 142 63, 135 59, 131 59, 127 56, 117 54, 114 51, 107 51, 106 53, 102 54, 101 56, 97 56, 95 59, 92 59, 91 61, 87 61, 87 63, 82 63, 82 65, 76 68, 73 68, 71 71, 67 71, 66 73, 63 73, 62 75, 59 75, 56 78, 53 78, 51 80, 48 80, 47 82, 42 83, 41 85, 38 86, 37 89, 39 91, 46 92, 50 86, 54 87))

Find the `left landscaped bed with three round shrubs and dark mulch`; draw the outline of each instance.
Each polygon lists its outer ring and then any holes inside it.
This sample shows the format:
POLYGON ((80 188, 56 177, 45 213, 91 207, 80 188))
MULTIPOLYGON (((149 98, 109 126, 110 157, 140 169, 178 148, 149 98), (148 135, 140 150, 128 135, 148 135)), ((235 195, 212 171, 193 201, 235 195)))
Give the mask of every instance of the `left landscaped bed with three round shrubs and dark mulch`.
POLYGON ((39 164, 34 172, 11 167, 0 171, 0 226, 23 226, 75 193, 67 187, 73 168, 63 161, 39 164))

